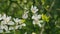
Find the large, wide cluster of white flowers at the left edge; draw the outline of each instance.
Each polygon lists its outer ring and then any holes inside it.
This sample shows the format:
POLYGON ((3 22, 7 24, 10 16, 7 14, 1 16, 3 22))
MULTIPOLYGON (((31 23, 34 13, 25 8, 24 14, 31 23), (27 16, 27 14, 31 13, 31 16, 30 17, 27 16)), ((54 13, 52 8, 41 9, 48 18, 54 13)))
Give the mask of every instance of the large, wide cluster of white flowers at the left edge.
POLYGON ((10 33, 10 30, 21 29, 23 26, 25 27, 26 24, 22 19, 0 14, 0 33, 4 31, 10 33))

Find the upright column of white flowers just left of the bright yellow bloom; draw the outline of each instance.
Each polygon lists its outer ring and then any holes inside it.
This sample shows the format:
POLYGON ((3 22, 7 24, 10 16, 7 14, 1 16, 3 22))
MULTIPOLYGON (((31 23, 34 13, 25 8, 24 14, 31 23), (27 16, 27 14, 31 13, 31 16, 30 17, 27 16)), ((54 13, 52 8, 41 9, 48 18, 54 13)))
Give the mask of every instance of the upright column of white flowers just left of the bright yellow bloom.
POLYGON ((41 20, 42 15, 37 13, 38 12, 37 7, 36 6, 32 6, 31 7, 31 11, 33 13, 33 16, 32 16, 33 24, 34 25, 37 24, 39 27, 41 27, 42 26, 41 23, 43 23, 44 21, 41 20))

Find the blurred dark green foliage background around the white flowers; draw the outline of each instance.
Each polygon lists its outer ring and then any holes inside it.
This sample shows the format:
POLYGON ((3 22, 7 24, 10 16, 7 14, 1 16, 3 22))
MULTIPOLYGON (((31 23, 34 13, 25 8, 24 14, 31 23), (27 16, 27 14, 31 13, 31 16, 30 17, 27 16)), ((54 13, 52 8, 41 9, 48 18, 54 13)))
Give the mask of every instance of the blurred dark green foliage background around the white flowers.
POLYGON ((26 19, 27 26, 16 30, 15 34, 24 34, 25 32, 40 34, 41 28, 33 26, 32 19, 30 19, 32 5, 37 6, 38 13, 51 16, 49 22, 45 23, 43 34, 60 34, 60 0, 0 0, 0 14, 5 13, 8 16, 22 19, 23 12, 29 11, 29 19, 26 19), (25 7, 27 7, 26 10, 25 7))

